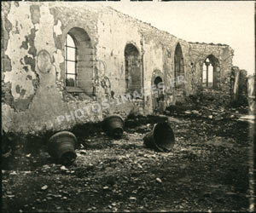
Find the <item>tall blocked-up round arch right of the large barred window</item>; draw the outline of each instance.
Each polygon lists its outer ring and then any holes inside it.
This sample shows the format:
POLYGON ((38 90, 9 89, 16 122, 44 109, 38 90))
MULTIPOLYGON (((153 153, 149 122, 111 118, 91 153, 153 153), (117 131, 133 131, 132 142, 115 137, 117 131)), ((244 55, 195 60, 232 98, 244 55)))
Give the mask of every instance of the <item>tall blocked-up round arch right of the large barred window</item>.
POLYGON ((125 46, 125 85, 131 95, 142 88, 141 59, 137 47, 131 43, 125 46))

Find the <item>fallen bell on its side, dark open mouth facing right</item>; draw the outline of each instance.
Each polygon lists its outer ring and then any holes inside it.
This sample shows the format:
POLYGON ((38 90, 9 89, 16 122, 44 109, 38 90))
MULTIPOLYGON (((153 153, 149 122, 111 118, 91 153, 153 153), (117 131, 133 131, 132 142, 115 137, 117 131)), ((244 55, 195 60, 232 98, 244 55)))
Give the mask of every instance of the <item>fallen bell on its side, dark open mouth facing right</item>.
POLYGON ((170 125, 166 122, 154 124, 153 130, 143 137, 144 144, 148 148, 156 151, 168 152, 174 146, 174 133, 170 125))

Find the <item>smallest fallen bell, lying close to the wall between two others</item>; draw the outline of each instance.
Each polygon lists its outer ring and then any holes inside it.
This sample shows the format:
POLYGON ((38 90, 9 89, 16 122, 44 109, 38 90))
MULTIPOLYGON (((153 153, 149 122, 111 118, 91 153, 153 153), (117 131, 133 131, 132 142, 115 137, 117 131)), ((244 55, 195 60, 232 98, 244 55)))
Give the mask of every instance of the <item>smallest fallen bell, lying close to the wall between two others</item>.
POLYGON ((113 138, 121 138, 123 135, 124 121, 119 115, 111 115, 103 120, 102 129, 113 138))

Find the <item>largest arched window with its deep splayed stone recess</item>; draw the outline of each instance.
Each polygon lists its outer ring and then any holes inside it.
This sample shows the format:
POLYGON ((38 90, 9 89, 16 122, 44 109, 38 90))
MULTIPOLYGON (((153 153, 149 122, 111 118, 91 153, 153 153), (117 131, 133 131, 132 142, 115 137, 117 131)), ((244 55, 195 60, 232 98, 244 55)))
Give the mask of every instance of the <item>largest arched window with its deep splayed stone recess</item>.
POLYGON ((68 92, 93 94, 93 49, 80 27, 70 29, 65 38, 65 84, 68 92))

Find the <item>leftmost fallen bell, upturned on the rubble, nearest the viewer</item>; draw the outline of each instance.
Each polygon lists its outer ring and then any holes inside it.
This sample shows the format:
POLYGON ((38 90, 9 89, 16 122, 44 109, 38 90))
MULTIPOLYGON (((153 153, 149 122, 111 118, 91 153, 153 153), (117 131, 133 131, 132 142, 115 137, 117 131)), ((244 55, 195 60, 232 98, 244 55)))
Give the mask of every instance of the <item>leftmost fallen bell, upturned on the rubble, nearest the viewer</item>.
POLYGON ((75 153, 75 145, 77 138, 73 133, 61 131, 52 135, 48 141, 48 153, 55 158, 58 164, 73 164, 77 157, 75 153))

